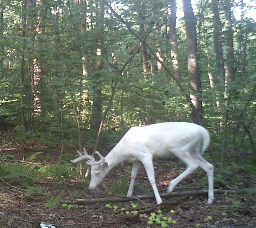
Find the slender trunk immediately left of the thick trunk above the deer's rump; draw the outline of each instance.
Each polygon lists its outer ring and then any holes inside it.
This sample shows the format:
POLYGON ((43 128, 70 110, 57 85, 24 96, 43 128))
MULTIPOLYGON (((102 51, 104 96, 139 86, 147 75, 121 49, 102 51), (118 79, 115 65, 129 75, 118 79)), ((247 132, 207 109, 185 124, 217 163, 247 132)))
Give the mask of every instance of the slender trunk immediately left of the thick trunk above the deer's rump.
POLYGON ((169 41, 171 43, 171 59, 174 77, 181 81, 179 60, 178 60, 178 45, 177 45, 177 33, 176 33, 176 12, 177 5, 176 0, 170 1, 171 14, 169 17, 169 41))

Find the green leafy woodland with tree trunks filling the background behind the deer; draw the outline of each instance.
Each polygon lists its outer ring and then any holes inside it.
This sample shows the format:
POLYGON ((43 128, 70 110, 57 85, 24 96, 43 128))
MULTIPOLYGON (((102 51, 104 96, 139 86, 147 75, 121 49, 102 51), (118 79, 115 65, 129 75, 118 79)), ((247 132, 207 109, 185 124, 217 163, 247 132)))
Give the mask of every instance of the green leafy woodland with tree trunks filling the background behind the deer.
POLYGON ((58 148, 63 162, 84 146, 109 151, 130 126, 188 121, 209 130, 213 163, 254 175, 255 9, 250 0, 1 1, 0 123, 11 138, 1 136, 2 169, 15 144, 58 148))

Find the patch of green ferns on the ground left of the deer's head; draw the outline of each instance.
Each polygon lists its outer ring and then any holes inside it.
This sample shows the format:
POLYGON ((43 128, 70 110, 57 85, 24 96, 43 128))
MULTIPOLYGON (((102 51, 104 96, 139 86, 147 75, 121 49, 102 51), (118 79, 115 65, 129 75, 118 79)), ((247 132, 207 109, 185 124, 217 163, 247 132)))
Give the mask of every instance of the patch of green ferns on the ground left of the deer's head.
POLYGON ((26 191, 26 195, 43 193, 46 187, 39 187, 40 183, 53 183, 56 186, 63 186, 74 179, 80 178, 78 171, 70 162, 56 164, 40 164, 35 160, 42 152, 35 152, 26 161, 6 163, 6 160, 14 157, 1 156, 0 158, 0 179, 11 184, 20 185, 26 191))

